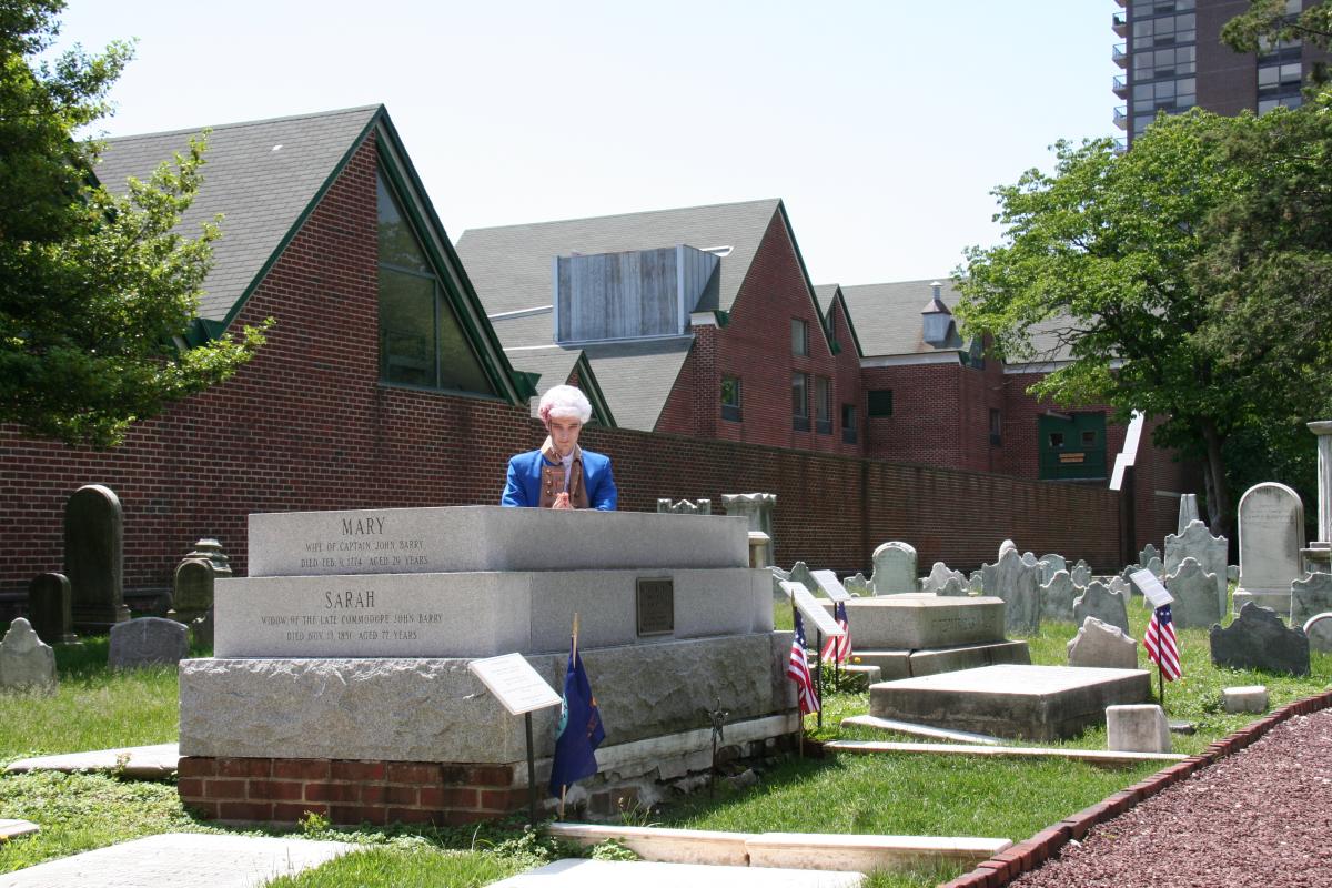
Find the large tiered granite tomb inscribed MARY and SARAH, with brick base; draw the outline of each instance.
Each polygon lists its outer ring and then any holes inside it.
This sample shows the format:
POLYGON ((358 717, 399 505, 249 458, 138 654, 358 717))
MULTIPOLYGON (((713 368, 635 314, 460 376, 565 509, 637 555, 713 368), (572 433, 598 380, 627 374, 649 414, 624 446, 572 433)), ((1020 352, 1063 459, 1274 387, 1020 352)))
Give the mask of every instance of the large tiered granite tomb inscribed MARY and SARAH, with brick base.
MULTIPOLYGON (((523 719, 468 664, 518 652, 558 690, 578 614, 606 742, 569 801, 607 808, 598 797, 633 787, 650 803, 658 780, 710 766, 710 708, 730 712, 726 742, 746 754, 799 730, 790 634, 773 631, 770 575, 749 567, 747 543, 746 519, 722 515, 252 515, 250 576, 216 583, 216 656, 180 664, 181 797, 261 821, 525 807, 523 719), (214 779, 237 770, 272 780, 214 779)), ((558 718, 533 712, 538 781, 558 718)))

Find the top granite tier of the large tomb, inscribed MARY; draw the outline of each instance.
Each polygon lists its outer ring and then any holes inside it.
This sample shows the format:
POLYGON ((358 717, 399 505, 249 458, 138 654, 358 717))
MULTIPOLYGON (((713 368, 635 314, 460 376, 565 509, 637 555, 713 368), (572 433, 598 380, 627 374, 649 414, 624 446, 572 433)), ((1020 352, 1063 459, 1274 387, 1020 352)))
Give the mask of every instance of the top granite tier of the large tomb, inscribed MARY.
POLYGON ((502 506, 260 513, 248 551, 250 576, 749 567, 749 521, 502 506))

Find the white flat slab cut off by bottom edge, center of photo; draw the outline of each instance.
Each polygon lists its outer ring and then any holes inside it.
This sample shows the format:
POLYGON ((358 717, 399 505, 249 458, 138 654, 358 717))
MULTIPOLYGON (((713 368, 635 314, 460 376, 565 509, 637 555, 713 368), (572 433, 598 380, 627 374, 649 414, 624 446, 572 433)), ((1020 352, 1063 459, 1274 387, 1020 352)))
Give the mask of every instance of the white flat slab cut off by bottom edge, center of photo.
POLYGON ((856 888, 858 872, 749 869, 646 860, 566 859, 497 881, 490 888, 856 888))

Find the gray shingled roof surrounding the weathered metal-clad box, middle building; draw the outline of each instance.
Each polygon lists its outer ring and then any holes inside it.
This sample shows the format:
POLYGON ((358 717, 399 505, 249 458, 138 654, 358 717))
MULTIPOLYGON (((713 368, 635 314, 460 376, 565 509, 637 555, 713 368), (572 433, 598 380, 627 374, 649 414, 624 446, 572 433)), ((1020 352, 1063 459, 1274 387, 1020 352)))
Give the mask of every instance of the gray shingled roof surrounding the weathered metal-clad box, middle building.
MULTIPOLYGON (((554 301, 550 268, 557 256, 621 253, 678 244, 698 249, 729 246, 730 253, 721 260, 717 308, 730 310, 779 205, 781 201, 771 198, 469 229, 458 238, 457 250, 486 313, 494 316, 550 305, 554 301)), ((503 342, 505 354, 519 370, 537 371, 534 361, 539 351, 563 350, 523 347, 553 346, 554 318, 549 312, 493 320, 492 324, 503 342)), ((694 338, 686 335, 581 349, 617 426, 643 431, 655 429, 693 342, 694 338)), ((567 351, 577 354, 578 350, 567 351)), ((539 385, 545 390, 546 379, 539 385)))

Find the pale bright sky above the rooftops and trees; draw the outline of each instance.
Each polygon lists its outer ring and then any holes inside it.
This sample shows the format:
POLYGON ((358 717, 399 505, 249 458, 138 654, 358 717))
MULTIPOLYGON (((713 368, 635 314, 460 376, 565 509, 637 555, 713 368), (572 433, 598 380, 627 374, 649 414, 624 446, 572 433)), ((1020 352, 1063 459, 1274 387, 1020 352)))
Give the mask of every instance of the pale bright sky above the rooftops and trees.
MULTIPOLYGON (((469 228, 779 197, 815 284, 950 274, 991 190, 1120 134, 1110 0, 69 0, 97 133, 384 104, 469 228)), ((206 166, 204 170, 206 181, 206 166)))

